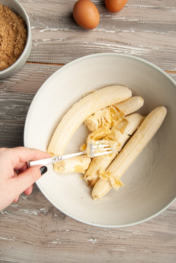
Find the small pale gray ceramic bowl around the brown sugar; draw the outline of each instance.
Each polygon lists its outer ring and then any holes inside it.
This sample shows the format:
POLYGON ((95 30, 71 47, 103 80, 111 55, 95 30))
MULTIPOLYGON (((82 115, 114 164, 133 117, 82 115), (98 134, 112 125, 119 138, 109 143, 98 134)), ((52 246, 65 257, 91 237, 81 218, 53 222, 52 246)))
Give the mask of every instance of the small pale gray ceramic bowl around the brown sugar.
POLYGON ((30 25, 28 15, 26 11, 24 10, 24 8, 21 6, 21 4, 18 3, 17 0, 0 0, 0 4, 10 7, 14 13, 20 15, 24 19, 24 22, 26 23, 27 31, 28 31, 26 46, 21 56, 10 67, 0 71, 0 79, 2 79, 2 78, 9 77, 10 75, 17 72, 20 68, 22 68, 22 66, 28 59, 29 54, 31 52, 32 36, 31 36, 31 25, 30 25))

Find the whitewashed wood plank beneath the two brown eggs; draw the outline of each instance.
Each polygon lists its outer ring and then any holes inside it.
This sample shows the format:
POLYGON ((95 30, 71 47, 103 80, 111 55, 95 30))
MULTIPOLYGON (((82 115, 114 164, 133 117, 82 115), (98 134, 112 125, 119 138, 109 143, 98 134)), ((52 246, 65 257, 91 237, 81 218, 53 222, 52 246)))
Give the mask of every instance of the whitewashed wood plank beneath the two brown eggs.
POLYGON ((29 61, 67 63, 92 53, 118 52, 144 58, 164 70, 175 70, 175 0, 128 0, 115 14, 106 9, 104 1, 93 1, 100 23, 92 31, 74 21, 76 1, 19 2, 31 22, 29 61))

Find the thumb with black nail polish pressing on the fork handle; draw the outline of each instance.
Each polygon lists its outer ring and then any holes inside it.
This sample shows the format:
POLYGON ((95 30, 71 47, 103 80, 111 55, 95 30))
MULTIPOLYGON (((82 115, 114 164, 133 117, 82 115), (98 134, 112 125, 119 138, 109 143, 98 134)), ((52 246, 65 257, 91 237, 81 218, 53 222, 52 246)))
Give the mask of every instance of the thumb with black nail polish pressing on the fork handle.
POLYGON ((47 172, 46 166, 36 165, 28 168, 23 173, 19 174, 17 177, 13 178, 14 180, 14 189, 18 191, 20 195, 24 192, 29 186, 35 183, 43 174, 47 172))

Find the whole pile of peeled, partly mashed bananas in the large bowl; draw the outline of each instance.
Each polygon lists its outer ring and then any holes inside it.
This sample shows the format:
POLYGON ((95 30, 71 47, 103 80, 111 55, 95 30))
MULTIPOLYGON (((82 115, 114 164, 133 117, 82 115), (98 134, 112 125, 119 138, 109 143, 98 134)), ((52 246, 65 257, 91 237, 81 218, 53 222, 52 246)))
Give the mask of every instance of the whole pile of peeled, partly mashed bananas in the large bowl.
MULTIPOLYGON (((114 85, 96 90, 74 104, 55 130, 48 153, 51 156, 62 155, 83 122, 92 131, 86 143, 105 140, 116 148, 116 152, 96 156, 92 160, 87 155, 76 156, 54 164, 54 170, 83 173, 88 186, 94 186, 94 200, 102 198, 112 188, 118 190, 123 186, 121 176, 159 129, 167 114, 163 106, 152 110, 145 119, 138 113, 131 114, 143 103, 142 97, 132 97, 127 87, 114 85)), ((86 144, 81 149, 85 147, 86 144)))

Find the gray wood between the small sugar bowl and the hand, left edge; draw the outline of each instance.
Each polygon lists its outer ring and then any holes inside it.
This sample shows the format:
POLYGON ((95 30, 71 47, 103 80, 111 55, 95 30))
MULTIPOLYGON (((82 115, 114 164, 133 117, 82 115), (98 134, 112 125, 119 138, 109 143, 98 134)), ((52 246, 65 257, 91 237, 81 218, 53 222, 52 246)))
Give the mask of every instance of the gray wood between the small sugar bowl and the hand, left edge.
POLYGON ((37 90, 59 65, 25 64, 0 80, 0 147, 23 146, 24 123, 37 90))

